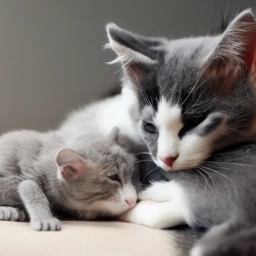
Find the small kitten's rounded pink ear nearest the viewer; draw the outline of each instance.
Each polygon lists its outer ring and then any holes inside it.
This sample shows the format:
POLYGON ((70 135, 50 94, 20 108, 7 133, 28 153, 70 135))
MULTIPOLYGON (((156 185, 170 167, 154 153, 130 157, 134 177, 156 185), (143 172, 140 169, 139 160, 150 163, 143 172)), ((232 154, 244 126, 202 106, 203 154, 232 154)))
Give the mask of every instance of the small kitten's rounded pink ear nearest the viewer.
POLYGON ((63 178, 79 176, 85 169, 85 160, 68 148, 60 149, 56 154, 56 163, 63 178))

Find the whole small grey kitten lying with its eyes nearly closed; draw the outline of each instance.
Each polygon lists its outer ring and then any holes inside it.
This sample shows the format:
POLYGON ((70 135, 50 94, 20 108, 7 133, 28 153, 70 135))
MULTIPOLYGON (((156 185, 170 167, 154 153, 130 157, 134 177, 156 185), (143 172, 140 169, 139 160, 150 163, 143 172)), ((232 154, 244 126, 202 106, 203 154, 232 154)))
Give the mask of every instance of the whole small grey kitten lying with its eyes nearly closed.
POLYGON ((114 127, 107 138, 66 145, 57 131, 12 131, 0 137, 0 219, 30 219, 34 230, 59 230, 56 217, 116 217, 136 204, 129 139, 114 127), (123 147, 125 143, 126 148, 123 147))

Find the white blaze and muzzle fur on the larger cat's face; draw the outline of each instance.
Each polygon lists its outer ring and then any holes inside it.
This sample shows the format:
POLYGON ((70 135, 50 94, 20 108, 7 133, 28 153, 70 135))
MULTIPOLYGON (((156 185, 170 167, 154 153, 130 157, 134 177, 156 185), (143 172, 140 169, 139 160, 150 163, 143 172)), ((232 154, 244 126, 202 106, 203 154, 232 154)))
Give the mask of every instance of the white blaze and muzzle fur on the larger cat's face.
MULTIPOLYGON (((147 109, 151 111, 151 109, 147 109)), ((183 127, 181 121, 181 108, 161 99, 158 110, 154 118, 154 123, 158 128, 157 159, 155 163, 166 171, 188 169, 198 166, 210 154, 215 140, 225 132, 225 123, 221 123, 216 129, 206 136, 197 135, 196 131, 207 125, 212 117, 219 113, 212 113, 198 124, 193 130, 187 132, 181 139, 178 137, 180 129, 183 127), (164 164, 159 157, 175 156, 177 159, 172 166, 164 164)))

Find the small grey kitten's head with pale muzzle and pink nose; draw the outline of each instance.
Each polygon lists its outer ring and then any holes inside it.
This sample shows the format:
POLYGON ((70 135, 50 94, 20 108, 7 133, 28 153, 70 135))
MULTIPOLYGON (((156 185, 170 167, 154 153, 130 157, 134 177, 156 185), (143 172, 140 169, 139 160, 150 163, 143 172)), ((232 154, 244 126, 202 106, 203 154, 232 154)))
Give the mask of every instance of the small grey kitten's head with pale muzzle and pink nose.
POLYGON ((135 157, 122 146, 124 140, 114 127, 106 140, 81 138, 72 149, 58 151, 58 177, 78 207, 120 214, 136 204, 135 157))

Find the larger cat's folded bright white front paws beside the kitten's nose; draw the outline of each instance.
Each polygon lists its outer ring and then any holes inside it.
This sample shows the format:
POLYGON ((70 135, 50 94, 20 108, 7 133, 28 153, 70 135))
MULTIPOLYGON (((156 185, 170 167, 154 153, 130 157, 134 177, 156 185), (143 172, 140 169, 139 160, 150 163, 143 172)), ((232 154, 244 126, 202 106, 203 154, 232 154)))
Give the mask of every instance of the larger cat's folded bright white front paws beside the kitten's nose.
POLYGON ((164 229, 187 223, 189 208, 185 191, 177 182, 156 182, 139 194, 143 200, 120 217, 120 220, 164 229))

